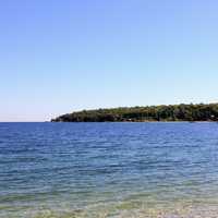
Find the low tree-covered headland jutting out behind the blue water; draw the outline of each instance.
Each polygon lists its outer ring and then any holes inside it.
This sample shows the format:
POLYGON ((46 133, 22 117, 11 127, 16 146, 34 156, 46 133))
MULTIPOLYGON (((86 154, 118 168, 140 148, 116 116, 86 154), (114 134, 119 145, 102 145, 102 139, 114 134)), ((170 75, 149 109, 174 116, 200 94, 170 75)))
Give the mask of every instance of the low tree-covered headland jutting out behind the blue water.
POLYGON ((218 104, 180 104, 82 110, 62 114, 51 122, 172 122, 218 121, 218 104))

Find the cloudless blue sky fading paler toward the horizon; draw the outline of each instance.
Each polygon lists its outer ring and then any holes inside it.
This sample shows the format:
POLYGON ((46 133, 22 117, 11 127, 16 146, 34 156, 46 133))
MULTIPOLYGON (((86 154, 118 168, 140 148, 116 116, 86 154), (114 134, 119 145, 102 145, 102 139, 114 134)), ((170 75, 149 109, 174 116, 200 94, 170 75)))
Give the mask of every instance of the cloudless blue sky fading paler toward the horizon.
POLYGON ((218 102, 216 0, 0 0, 0 121, 218 102))

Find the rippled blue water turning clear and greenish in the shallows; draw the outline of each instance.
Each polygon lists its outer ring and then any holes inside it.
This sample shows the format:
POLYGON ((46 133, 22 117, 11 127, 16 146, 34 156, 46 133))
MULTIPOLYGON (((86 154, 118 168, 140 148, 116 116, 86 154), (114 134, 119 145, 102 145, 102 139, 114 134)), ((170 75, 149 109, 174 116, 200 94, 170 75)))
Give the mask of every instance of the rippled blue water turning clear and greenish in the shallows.
POLYGON ((217 217, 217 123, 0 123, 0 217, 217 217))

